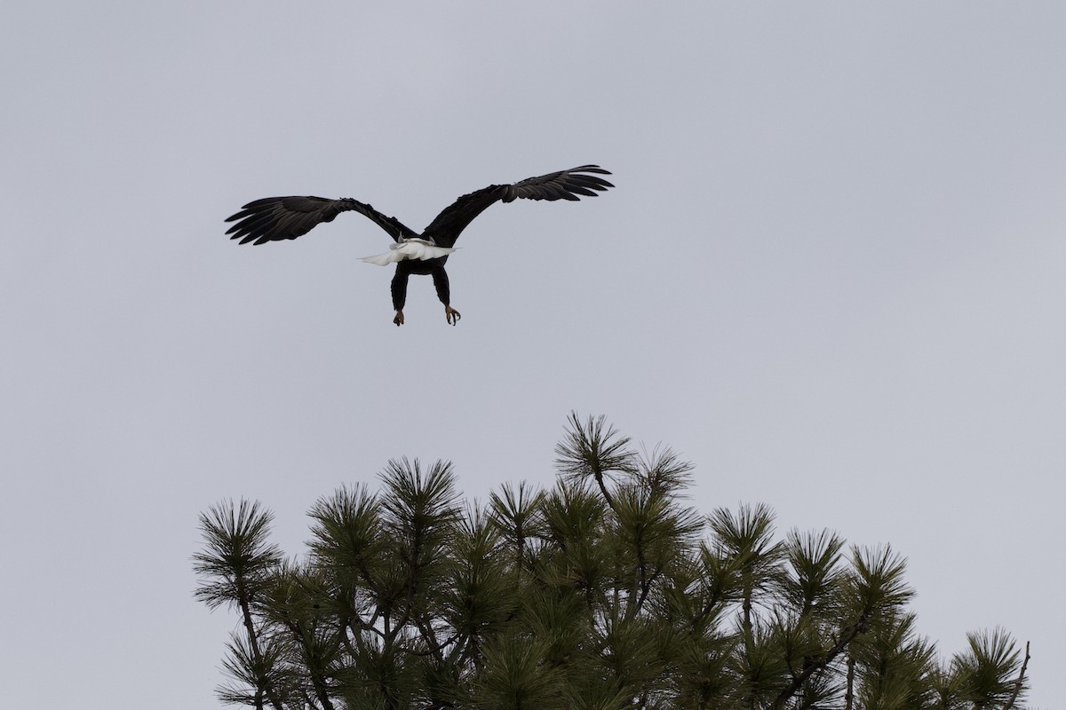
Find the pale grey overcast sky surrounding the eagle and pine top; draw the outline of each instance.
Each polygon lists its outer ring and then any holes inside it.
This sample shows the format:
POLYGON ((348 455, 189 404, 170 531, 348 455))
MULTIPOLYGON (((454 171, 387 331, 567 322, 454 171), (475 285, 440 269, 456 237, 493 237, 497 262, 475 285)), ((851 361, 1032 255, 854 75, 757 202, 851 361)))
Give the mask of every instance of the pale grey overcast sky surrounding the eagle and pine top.
POLYGON ((211 708, 197 514, 393 457, 550 485, 567 414, 909 560, 944 655, 1066 667, 1066 3, 37 2, 0 24, 10 707, 211 708), (388 236, 239 246, 272 195, 498 204, 392 325, 388 236), (42 699, 46 698, 46 699, 42 699))

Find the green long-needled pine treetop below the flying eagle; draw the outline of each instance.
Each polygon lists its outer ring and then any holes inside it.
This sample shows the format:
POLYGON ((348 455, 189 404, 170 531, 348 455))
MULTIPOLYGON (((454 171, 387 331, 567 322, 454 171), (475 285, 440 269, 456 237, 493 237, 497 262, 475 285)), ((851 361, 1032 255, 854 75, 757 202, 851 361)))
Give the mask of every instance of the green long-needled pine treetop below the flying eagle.
POLYGON ((200 516, 196 596, 233 607, 226 703, 285 708, 1007 710, 1002 630, 941 663, 906 564, 827 531, 775 536, 763 505, 682 503, 692 467, 571 415, 548 491, 464 507, 450 464, 390 461, 341 488, 286 560, 258 503, 200 516))

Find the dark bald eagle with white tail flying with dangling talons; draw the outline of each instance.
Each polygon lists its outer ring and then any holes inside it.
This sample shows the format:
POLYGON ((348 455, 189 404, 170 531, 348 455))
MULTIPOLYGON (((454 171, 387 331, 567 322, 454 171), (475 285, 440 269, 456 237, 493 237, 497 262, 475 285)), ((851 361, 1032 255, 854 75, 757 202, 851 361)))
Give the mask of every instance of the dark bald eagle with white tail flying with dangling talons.
POLYGON ((474 217, 495 202, 527 200, 578 200, 580 196, 596 197, 598 192, 614 187, 600 175, 611 175, 598 165, 582 165, 569 170, 549 172, 527 178, 512 185, 489 185, 464 195, 430 222, 421 234, 404 226, 395 217, 384 214, 365 202, 352 198, 330 200, 323 197, 268 197, 248 202, 226 221, 237 222, 226 234, 241 244, 265 244, 278 240, 294 240, 309 232, 316 225, 333 221, 341 212, 354 211, 369 217, 388 232, 395 244, 389 251, 362 261, 379 266, 395 264, 392 277, 392 319, 402 326, 403 307, 407 300, 407 277, 413 274, 430 275, 437 290, 437 297, 445 304, 445 318, 455 325, 459 312, 451 306, 448 273, 445 263, 455 251, 455 240, 474 217))

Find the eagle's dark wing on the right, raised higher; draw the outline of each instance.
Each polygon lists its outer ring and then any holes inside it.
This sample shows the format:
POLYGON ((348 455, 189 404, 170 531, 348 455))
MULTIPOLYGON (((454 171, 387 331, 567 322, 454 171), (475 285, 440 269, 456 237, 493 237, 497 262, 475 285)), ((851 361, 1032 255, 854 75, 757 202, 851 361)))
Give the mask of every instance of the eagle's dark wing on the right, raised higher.
POLYGON ((582 165, 569 170, 527 178, 513 185, 489 185, 455 200, 425 228, 422 237, 432 238, 442 247, 454 246, 455 240, 466 229, 466 226, 491 204, 499 201, 511 202, 519 198, 526 200, 578 200, 581 199, 581 196, 596 197, 599 192, 614 187, 603 178, 597 177, 600 175, 611 174, 598 165, 582 165))

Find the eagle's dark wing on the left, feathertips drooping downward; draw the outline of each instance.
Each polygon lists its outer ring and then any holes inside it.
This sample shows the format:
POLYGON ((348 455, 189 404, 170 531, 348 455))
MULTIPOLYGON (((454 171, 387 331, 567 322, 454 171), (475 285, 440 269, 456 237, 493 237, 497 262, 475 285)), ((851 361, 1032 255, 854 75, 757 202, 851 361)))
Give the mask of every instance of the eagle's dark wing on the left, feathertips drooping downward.
POLYGON ((339 200, 324 197, 266 197, 255 200, 226 218, 226 221, 237 222, 226 230, 226 234, 231 240, 240 240, 241 244, 294 240, 307 234, 316 225, 333 221, 341 212, 349 211, 370 217, 397 242, 418 236, 395 217, 386 217, 369 204, 348 197, 339 200))

